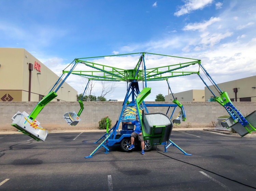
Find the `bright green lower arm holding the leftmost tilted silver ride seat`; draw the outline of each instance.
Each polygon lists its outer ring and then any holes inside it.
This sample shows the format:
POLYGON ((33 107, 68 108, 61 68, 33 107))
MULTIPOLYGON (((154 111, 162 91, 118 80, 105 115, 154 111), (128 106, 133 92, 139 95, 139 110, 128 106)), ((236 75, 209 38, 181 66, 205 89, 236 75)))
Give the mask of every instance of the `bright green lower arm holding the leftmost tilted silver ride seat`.
POLYGON ((41 112, 41 110, 44 108, 45 105, 47 105, 50 101, 52 101, 54 98, 57 97, 57 94, 52 91, 48 93, 33 109, 31 114, 28 116, 28 118, 34 120, 38 114, 41 112))

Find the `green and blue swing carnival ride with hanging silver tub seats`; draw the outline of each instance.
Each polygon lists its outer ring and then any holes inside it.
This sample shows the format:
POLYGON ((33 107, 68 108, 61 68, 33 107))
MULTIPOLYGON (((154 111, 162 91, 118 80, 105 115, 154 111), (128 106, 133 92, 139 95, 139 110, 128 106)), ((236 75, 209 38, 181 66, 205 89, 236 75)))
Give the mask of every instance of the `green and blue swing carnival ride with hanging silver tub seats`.
MULTIPOLYGON (((202 66, 200 59, 154 54, 147 52, 118 54, 109 56, 85 57, 74 59, 73 62, 69 65, 71 67, 70 70, 66 70, 69 67, 68 66, 62 71, 62 75, 59 77, 51 91, 49 91, 49 93, 37 104, 37 106, 35 106, 31 114, 28 115, 25 111, 23 113, 18 111, 13 116, 13 123, 11 125, 19 129, 19 131, 21 131, 23 134, 29 135, 30 137, 37 141, 44 141, 47 137, 47 131, 40 126, 40 123, 37 120, 35 120, 35 118, 44 108, 45 105, 47 105, 50 101, 57 97, 56 92, 67 80, 70 74, 82 76, 88 79, 88 83, 85 87, 83 96, 85 94, 89 82, 92 80, 113 82, 123 81, 127 82, 127 92, 118 119, 116 120, 115 125, 110 130, 107 128, 106 133, 95 142, 98 143, 101 139, 103 139, 103 141, 98 145, 98 147, 89 156, 85 158, 92 157, 92 155, 101 147, 104 147, 106 149, 105 153, 108 153, 108 146, 112 146, 114 144, 120 144, 123 151, 128 151, 128 147, 130 146, 130 134, 133 132, 134 127, 133 125, 124 124, 123 122, 134 120, 136 115, 139 116, 139 120, 141 123, 142 134, 145 142, 145 151, 150 151, 153 145, 164 144, 164 152, 167 152, 166 149, 170 145, 173 145, 180 149, 185 155, 189 155, 169 139, 173 123, 181 123, 181 121, 186 120, 186 114, 183 105, 178 100, 176 100, 174 96, 173 104, 145 104, 144 99, 147 97, 148 94, 151 93, 151 88, 147 87, 147 82, 165 80, 168 84, 168 88, 171 91, 170 84, 168 82, 169 78, 197 74, 199 78, 203 81, 205 86, 207 86, 207 88, 213 94, 214 100, 221 104, 230 115, 230 118, 227 121, 223 122, 224 126, 233 128, 242 137, 256 130, 256 112, 253 112, 247 117, 244 117, 239 112, 239 110, 236 107, 234 107, 234 105, 232 104, 228 97, 227 92, 222 91, 216 85, 212 77, 202 66), (109 56, 127 56, 135 54, 139 54, 140 56, 136 66, 133 69, 121 69, 88 61, 89 59, 103 58, 109 56), (189 61, 147 69, 145 65, 145 54, 179 58, 189 61), (83 64, 86 67, 92 68, 92 70, 76 71, 74 70, 74 68, 77 64, 83 64), (192 65, 198 65, 198 71, 178 71, 180 69, 183 70, 192 65), (213 87, 217 90, 217 92, 219 93, 218 96, 213 93, 213 91, 209 88, 207 83, 203 80, 202 75, 199 73, 200 70, 203 71, 205 76, 207 76, 208 80, 212 83, 213 87), (142 82, 142 91, 139 90, 138 82, 142 82), (129 101, 129 99, 131 99, 131 101, 129 101), (149 113, 147 110, 147 107, 151 106, 168 107, 168 110, 166 114, 152 114, 149 113), (173 110, 171 115, 168 116, 168 112, 171 107, 173 108, 173 110), (176 107, 179 107, 181 111, 179 112, 177 118, 171 121, 176 107), (118 127, 120 125, 122 126, 122 130, 119 131, 118 127), (166 146, 168 143, 169 145, 166 146)), ((80 115, 84 109, 82 99, 79 100, 81 109, 77 114, 75 113, 75 111, 66 112, 66 114, 64 114, 63 118, 69 125, 76 125, 81 120, 80 115)))

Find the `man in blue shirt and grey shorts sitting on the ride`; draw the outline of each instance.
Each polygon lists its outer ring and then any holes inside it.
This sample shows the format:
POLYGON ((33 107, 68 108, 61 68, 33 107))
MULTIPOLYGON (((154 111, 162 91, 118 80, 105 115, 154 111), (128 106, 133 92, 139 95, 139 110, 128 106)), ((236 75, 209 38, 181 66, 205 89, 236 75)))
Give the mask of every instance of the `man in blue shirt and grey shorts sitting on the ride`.
POLYGON ((124 122, 124 124, 133 124, 136 126, 134 132, 132 132, 132 134, 131 134, 131 146, 129 147, 128 150, 132 150, 133 148, 135 148, 135 146, 133 145, 134 139, 138 137, 139 141, 141 141, 141 148, 142 148, 141 154, 144 155, 145 143, 143 140, 143 136, 142 136, 142 132, 141 132, 141 128, 140 128, 141 125, 140 125, 138 116, 136 116, 136 120, 134 120, 132 122, 124 122))

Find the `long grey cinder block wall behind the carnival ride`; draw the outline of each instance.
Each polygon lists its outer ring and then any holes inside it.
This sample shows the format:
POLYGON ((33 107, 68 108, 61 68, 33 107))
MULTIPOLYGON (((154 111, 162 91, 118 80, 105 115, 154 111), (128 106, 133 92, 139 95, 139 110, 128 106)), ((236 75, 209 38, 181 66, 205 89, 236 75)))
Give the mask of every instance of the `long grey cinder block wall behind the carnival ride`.
MULTIPOLYGON (((0 128, 10 125, 11 118, 17 111, 30 112, 38 102, 0 102, 0 128)), ((171 103, 171 102, 145 102, 153 104, 171 103)), ((181 126, 186 126, 191 123, 191 126, 209 126, 211 121, 219 116, 228 115, 224 107, 216 102, 181 102, 186 110, 186 121, 181 126)), ((81 121, 77 127, 98 127, 98 121, 109 116, 112 120, 112 125, 115 124, 123 102, 84 102, 84 110, 80 116, 81 121)), ((250 114, 256 110, 256 102, 234 102, 234 106, 242 114, 250 114)), ((162 112, 166 114, 168 107, 147 107, 149 112, 162 112)), ((50 102, 47 104, 37 117, 37 120, 42 126, 68 126, 63 119, 63 115, 68 111, 79 111, 78 102, 50 102)), ((168 115, 170 116, 173 108, 170 108, 168 115)), ((176 107, 173 118, 178 115, 179 107, 176 107)))

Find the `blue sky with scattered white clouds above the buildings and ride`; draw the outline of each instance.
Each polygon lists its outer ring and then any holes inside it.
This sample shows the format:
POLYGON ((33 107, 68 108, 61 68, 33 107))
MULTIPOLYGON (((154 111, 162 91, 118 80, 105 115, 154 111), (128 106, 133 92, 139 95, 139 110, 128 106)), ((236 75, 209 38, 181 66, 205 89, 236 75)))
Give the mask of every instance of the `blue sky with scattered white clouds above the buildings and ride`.
MULTIPOLYGON (((0 0, 0 47, 25 48, 58 75, 80 57, 147 51, 197 58, 222 83, 256 75, 255 10, 253 0, 0 0)), ((132 69, 138 57, 97 62, 132 69)), ((147 68, 172 64, 154 59, 148 57, 147 68)), ((82 93, 86 79, 70 76, 67 82, 82 93)), ((197 76, 170 83, 174 93, 204 89, 197 76)), ((114 85, 106 98, 122 101, 126 85, 114 85)), ((164 81, 148 87, 147 101, 168 93, 164 81)), ((96 82, 93 94, 100 90, 96 82)))

